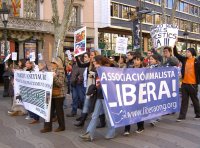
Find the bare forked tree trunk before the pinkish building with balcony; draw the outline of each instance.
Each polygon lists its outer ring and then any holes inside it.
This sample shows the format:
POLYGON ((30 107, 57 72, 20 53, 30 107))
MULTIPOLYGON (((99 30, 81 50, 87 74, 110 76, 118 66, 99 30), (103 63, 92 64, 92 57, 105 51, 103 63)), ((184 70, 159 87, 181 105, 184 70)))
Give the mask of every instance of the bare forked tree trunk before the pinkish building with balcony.
MULTIPOLYGON (((59 0, 60 1, 60 0, 59 0)), ((52 21, 54 25, 54 48, 53 56, 64 57, 63 53, 63 42, 65 39, 66 31, 70 26, 70 18, 73 9, 74 0, 64 0, 64 12, 63 18, 60 20, 58 14, 57 0, 51 0, 52 5, 52 21)))

